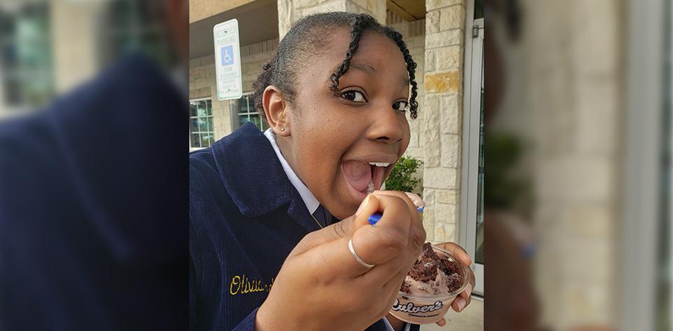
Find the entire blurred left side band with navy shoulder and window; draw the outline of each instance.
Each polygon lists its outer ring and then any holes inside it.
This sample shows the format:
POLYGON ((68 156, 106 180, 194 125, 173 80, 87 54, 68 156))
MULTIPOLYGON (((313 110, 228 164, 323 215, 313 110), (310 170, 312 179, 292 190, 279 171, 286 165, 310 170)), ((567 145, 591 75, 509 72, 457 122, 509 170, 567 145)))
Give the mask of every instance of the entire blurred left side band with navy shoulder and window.
POLYGON ((186 1, 0 25, 0 330, 185 330, 186 1))

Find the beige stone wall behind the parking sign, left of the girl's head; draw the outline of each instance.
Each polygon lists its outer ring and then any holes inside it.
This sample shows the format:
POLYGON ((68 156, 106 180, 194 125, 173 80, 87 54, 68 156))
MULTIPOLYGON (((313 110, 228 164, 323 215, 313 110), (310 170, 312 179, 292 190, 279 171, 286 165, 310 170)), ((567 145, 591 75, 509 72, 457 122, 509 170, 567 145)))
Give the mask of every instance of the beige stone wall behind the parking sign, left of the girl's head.
MULTIPOLYGON (((278 47, 278 39, 254 43, 240 48, 243 73, 243 93, 252 92, 252 82, 257 79, 261 67, 268 62, 278 47)), ((207 55, 189 61, 189 99, 210 98, 212 100, 213 129, 215 140, 229 135, 232 129, 229 100, 217 100, 215 83, 215 55, 207 55)))

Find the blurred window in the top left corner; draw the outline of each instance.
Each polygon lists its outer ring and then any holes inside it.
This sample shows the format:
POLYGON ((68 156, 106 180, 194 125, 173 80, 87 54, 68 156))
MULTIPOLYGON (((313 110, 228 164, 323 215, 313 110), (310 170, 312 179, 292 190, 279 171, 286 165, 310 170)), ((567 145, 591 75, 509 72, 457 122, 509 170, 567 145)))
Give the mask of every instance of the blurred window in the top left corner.
POLYGON ((52 66, 48 4, 1 7, 0 108, 46 104, 54 95, 52 66))

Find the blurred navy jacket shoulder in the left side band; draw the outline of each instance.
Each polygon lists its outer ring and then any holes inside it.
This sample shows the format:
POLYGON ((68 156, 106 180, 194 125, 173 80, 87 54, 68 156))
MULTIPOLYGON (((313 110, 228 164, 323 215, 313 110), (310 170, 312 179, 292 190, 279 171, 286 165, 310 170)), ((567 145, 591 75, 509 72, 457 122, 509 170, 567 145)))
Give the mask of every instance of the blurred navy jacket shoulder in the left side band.
POLYGON ((0 330, 184 330, 186 98, 135 54, 0 123, 0 330))

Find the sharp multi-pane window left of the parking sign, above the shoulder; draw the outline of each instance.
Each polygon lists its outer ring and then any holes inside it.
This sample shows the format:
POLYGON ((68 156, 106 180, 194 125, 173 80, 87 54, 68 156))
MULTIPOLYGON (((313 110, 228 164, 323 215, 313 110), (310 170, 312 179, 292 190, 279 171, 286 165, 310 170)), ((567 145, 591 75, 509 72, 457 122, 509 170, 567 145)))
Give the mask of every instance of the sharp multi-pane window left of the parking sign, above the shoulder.
POLYGON ((191 100, 189 102, 189 147, 205 148, 215 142, 212 128, 212 101, 191 100))

